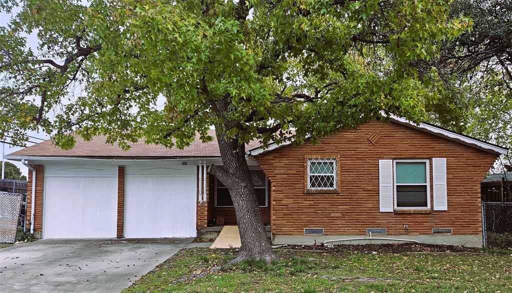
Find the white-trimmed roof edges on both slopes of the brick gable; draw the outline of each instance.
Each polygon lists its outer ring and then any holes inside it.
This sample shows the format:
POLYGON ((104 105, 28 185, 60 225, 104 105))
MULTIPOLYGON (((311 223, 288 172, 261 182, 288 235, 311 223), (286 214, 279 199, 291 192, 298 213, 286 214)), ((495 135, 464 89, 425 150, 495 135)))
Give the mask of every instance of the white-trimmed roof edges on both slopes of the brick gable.
MULTIPOLYGON (((383 116, 386 117, 385 115, 383 115, 383 116)), ((443 138, 446 138, 449 140, 453 140, 453 141, 465 144, 465 145, 469 145, 470 147, 480 149, 482 151, 486 151, 486 152, 493 153, 493 154, 500 154, 500 155, 504 155, 508 152, 508 149, 500 147, 499 145, 485 142, 483 140, 479 140, 479 139, 473 138, 471 136, 456 133, 454 131, 444 129, 444 128, 438 127, 436 125, 432 125, 429 123, 415 124, 414 122, 411 122, 407 119, 404 119, 404 118, 401 118, 398 116, 394 116, 394 115, 390 115, 389 118, 391 121, 393 121, 395 123, 406 125, 408 127, 411 127, 411 128, 414 128, 414 129, 417 129, 417 130, 420 130, 420 131, 423 131, 426 133, 430 133, 433 135, 437 135, 437 136, 440 136, 440 137, 443 137, 443 138)), ((252 150, 249 150, 247 152, 247 155, 257 156, 257 155, 260 155, 260 154, 263 154, 266 152, 270 152, 275 149, 285 147, 286 145, 289 145, 292 142, 293 142, 292 140, 288 140, 286 142, 279 143, 279 144, 278 143, 270 144, 267 148, 256 147, 252 150)))

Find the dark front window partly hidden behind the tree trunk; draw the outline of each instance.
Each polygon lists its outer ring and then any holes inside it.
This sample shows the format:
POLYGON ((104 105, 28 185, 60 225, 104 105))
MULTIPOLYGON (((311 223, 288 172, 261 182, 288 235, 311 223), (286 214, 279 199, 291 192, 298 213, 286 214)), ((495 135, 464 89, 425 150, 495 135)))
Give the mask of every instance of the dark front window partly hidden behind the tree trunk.
MULTIPOLYGON (((267 178, 265 173, 261 170, 249 170, 249 175, 256 191, 256 197, 258 198, 258 204, 260 206, 267 206, 267 178)), ((231 207, 233 201, 229 194, 227 187, 222 184, 218 179, 216 180, 216 206, 231 207)))

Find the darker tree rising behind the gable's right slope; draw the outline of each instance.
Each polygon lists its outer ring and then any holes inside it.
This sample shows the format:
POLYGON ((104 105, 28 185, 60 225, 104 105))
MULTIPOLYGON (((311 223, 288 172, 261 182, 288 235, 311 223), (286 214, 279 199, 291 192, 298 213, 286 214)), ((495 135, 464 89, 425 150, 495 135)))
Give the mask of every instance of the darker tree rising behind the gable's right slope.
MULTIPOLYGON (((420 72, 436 68, 462 119, 434 120, 512 148, 512 1, 455 0, 450 15, 471 17, 471 29, 441 42, 436 58, 416 64, 420 72)), ((510 155, 502 161, 512 165, 510 155)))

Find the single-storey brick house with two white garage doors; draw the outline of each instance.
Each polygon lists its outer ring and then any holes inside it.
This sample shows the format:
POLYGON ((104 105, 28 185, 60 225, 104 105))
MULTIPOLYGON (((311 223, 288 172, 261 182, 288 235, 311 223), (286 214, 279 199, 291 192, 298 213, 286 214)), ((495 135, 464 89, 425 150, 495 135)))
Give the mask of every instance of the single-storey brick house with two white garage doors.
MULTIPOLYGON (((194 237, 213 218, 236 224, 229 193, 206 172, 222 164, 215 140, 184 150, 135 143, 127 152, 104 142, 63 151, 46 141, 9 155, 33 170, 28 211, 38 236, 194 237)), ((480 181, 507 149, 399 117, 320 142, 246 146, 274 243, 372 233, 482 245, 480 181)))

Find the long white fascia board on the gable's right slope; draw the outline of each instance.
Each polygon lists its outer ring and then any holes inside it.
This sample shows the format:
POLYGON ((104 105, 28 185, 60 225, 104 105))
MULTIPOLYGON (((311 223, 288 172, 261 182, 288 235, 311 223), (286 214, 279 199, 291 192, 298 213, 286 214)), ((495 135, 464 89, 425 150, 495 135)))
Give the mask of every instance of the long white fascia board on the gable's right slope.
MULTIPOLYGON (((383 116, 386 117, 386 115, 383 115, 383 116)), ((440 137, 443 137, 443 138, 446 138, 449 140, 453 140, 453 141, 456 141, 456 142, 459 142, 459 143, 462 143, 465 145, 469 145, 470 147, 473 147, 476 149, 480 149, 480 150, 487 151, 487 152, 493 152, 493 153, 500 154, 500 155, 505 155, 506 153, 508 153, 507 149, 499 147, 498 145, 486 143, 486 142, 480 141, 478 139, 474 139, 474 138, 471 138, 471 137, 468 137, 465 135, 458 134, 453 131, 435 127, 434 125, 425 124, 425 123, 415 124, 414 122, 411 122, 405 118, 398 117, 398 116, 391 115, 391 114, 390 114, 389 118, 390 118, 390 120, 392 120, 396 123, 406 125, 411 128, 414 128, 414 129, 417 129, 417 130, 420 130, 423 132, 431 133, 431 134, 434 134, 434 135, 437 135, 437 136, 440 136, 440 137)))

